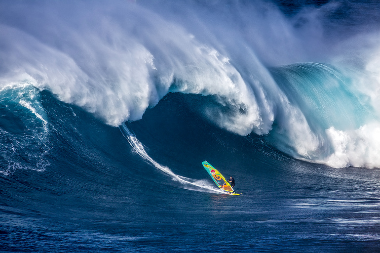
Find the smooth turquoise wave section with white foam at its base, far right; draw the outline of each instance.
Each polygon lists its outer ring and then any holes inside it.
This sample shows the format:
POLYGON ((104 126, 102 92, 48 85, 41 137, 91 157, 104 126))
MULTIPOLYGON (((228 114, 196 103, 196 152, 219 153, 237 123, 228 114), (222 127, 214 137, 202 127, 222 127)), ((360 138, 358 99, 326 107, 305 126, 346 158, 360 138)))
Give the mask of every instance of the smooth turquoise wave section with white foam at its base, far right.
POLYGON ((378 167, 378 114, 352 74, 317 63, 276 67, 272 73, 297 109, 281 108, 269 136, 275 146, 333 167, 378 167))

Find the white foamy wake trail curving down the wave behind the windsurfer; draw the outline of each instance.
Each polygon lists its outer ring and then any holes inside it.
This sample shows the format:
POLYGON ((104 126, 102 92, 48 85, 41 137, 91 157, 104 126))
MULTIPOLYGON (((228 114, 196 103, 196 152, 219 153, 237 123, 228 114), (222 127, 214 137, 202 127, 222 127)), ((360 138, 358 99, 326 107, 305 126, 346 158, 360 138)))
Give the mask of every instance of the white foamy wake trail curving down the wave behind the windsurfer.
POLYGON ((127 139, 129 144, 132 146, 133 150, 140 155, 146 162, 152 164, 156 168, 158 168, 160 171, 164 172, 168 176, 170 176, 174 181, 177 181, 181 183, 184 186, 195 186, 196 188, 189 188, 185 187, 187 190, 193 190, 193 191, 203 191, 203 192, 212 192, 212 193, 218 193, 218 194, 224 194, 224 192, 220 189, 215 189, 211 185, 207 185, 207 182, 204 180, 196 180, 192 178, 187 178, 183 176, 176 175, 173 173, 168 166, 161 165, 157 161, 155 161, 153 158, 151 158, 145 151, 144 146, 142 143, 137 139, 137 137, 129 130, 125 123, 121 124, 120 131, 122 132, 123 136, 127 139))

